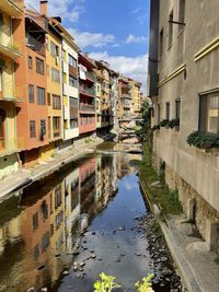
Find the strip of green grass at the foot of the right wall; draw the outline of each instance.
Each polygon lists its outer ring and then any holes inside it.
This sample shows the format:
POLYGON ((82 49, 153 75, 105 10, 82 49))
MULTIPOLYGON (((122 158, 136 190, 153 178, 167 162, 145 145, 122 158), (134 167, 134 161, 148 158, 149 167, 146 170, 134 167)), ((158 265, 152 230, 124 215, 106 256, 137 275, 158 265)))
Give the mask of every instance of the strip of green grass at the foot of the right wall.
POLYGON ((163 183, 162 177, 152 167, 149 145, 143 145, 143 160, 140 165, 140 180, 143 182, 147 195, 152 203, 160 205, 162 215, 182 213, 177 190, 173 191, 163 183), (152 187, 154 182, 161 182, 161 187, 152 187))

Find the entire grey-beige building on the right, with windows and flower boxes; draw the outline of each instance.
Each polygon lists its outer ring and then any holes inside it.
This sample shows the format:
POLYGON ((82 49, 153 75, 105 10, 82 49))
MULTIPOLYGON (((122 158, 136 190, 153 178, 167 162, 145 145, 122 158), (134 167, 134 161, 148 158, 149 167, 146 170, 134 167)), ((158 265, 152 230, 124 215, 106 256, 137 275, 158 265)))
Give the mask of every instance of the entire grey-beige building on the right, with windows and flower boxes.
POLYGON ((218 1, 152 0, 148 79, 152 126, 166 125, 153 132, 154 164, 212 250, 219 249, 218 11, 218 1))

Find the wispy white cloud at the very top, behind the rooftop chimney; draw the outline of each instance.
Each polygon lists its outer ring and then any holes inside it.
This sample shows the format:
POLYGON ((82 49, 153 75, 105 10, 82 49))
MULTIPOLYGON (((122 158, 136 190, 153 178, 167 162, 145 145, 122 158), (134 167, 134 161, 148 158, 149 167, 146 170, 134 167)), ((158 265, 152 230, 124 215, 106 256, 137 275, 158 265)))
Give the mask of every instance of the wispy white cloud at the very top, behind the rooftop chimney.
MULTIPOLYGON (((25 0, 39 11, 39 0, 25 0)), ((49 16, 61 16, 62 20, 68 19, 71 22, 78 22, 81 13, 84 11, 84 0, 50 0, 48 2, 49 16)))

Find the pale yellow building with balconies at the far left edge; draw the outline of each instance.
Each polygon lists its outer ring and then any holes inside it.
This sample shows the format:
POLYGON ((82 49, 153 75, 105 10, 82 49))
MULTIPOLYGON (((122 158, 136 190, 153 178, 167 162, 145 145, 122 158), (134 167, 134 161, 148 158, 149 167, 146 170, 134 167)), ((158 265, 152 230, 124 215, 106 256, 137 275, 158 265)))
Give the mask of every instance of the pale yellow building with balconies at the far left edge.
POLYGON ((22 54, 14 31, 22 25, 23 7, 22 0, 0 1, 0 178, 19 168, 15 68, 22 54))

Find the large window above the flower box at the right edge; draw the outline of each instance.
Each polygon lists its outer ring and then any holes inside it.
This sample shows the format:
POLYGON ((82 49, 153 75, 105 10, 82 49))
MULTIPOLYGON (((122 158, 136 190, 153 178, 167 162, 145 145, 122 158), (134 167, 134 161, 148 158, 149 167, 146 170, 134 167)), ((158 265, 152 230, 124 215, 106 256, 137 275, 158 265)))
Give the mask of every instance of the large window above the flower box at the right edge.
POLYGON ((200 96, 199 130, 219 133, 219 92, 200 96))

